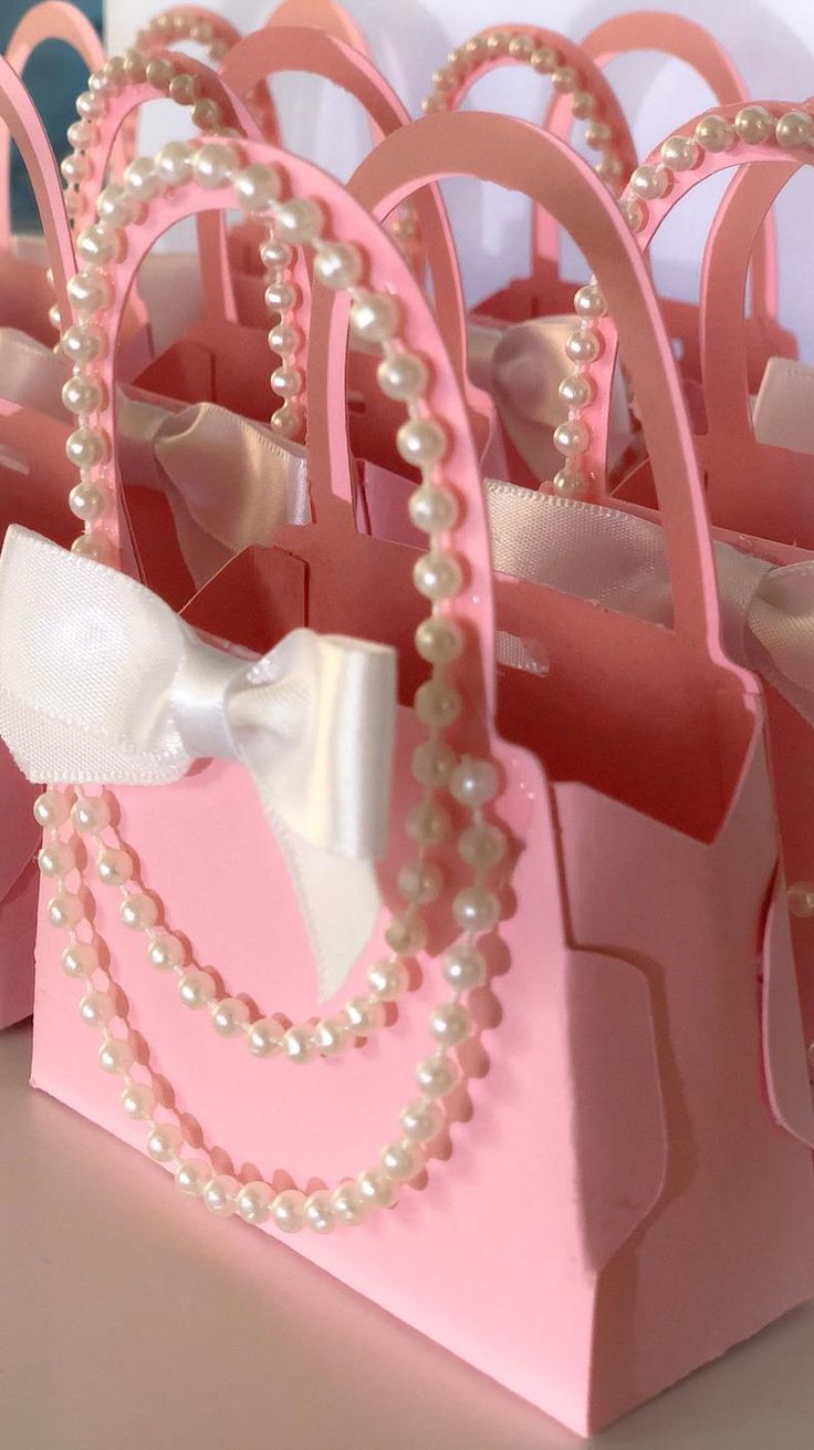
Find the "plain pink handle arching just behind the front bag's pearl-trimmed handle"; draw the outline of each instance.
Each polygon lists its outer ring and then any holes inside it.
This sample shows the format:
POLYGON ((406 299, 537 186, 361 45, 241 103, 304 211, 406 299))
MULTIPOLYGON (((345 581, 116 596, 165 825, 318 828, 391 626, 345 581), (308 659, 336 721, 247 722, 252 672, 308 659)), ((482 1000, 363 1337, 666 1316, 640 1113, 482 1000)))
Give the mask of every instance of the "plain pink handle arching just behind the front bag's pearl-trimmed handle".
MULTIPOLYGON (((365 107, 377 139, 408 125, 410 115, 366 55, 333 35, 303 26, 280 26, 246 36, 223 64, 223 80, 245 97, 261 80, 281 71, 301 71, 346 90, 365 107)), ((455 242, 437 188, 419 197, 417 207, 436 315, 459 377, 466 384, 466 326, 455 242)), ((214 316, 233 320, 236 302, 223 242, 223 218, 201 218, 201 273, 214 316)), ((466 384, 468 386, 468 384, 466 384)))

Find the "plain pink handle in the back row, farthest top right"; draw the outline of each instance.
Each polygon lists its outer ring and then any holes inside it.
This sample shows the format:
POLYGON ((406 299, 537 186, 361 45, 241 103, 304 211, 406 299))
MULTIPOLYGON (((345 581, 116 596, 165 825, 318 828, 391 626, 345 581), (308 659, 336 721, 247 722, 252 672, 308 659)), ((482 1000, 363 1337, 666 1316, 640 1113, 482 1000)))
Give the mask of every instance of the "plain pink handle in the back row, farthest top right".
MULTIPOLYGON (((687 19, 687 16, 663 14, 658 10, 617 14, 591 30, 581 45, 598 67, 605 67, 617 55, 626 55, 632 51, 658 51, 662 55, 672 55, 698 72, 721 106, 749 100, 749 87, 727 52, 704 26, 687 19)), ((546 115, 546 126, 563 139, 568 136, 571 130, 568 97, 553 97, 546 115)), ((537 216, 534 225, 534 254, 556 262, 558 235, 550 220, 546 216, 537 216)), ((766 222, 755 248, 752 310, 756 318, 766 319, 773 319, 778 313, 778 242, 772 219, 766 222)))

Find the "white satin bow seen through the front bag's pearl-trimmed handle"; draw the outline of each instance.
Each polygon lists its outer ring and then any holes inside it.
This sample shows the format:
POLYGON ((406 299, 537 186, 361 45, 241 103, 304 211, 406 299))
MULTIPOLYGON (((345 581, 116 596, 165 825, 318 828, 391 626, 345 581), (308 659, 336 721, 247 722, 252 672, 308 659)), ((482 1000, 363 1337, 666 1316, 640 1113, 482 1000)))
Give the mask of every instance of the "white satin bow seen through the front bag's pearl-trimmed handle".
MULTIPOLYGON (((67 422, 62 358, 0 328, 0 389, 20 407, 67 422)), ((271 544, 284 523, 309 523, 306 450, 217 403, 169 409, 119 392, 122 478, 162 493, 181 554, 200 587, 235 554, 271 544)))

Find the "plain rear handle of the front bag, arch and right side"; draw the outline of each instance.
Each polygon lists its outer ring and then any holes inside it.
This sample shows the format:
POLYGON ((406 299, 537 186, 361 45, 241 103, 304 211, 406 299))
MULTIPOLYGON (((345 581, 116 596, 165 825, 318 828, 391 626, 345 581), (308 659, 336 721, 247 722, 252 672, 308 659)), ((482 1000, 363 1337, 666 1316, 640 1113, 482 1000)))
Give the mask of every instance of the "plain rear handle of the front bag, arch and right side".
POLYGON ((355 174, 353 188, 382 218, 417 187, 453 175, 521 191, 545 206, 601 278, 608 309, 618 319, 650 445, 675 629, 692 648, 720 661, 717 583, 692 431, 659 303, 636 241, 601 181, 565 142, 504 116, 471 113, 417 122, 371 152, 355 174))

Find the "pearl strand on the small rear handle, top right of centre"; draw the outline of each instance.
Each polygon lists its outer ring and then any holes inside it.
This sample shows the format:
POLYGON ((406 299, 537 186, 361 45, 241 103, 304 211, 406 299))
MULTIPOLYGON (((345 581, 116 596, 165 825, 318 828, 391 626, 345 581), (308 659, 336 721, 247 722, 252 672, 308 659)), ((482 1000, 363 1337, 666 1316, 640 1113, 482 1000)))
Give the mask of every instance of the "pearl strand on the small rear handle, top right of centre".
POLYGON ((576 120, 585 120, 585 142, 600 152, 595 162, 597 175, 616 196, 623 183, 623 162, 617 155, 613 128, 601 115, 601 100, 588 88, 574 65, 563 62, 562 52, 552 44, 558 38, 536 28, 513 28, 505 30, 481 30, 448 55, 448 62, 433 71, 432 93, 421 103, 424 115, 436 110, 453 110, 468 88, 494 65, 516 61, 530 65, 537 75, 547 75, 552 87, 561 96, 571 97, 571 112, 576 120))

